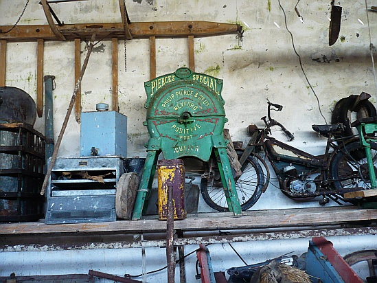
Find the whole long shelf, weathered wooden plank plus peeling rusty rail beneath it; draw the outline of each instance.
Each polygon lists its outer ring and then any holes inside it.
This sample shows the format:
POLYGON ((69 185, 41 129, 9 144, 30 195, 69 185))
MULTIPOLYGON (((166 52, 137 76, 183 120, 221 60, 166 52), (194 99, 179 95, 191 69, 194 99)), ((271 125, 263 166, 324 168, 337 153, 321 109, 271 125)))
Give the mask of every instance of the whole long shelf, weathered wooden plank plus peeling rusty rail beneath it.
MULTIPOLYGON (((376 209, 354 206, 189 214, 174 221, 174 245, 376 235, 376 220, 376 209)), ((166 224, 157 216, 105 223, 0 223, 0 252, 165 247, 166 224)))

